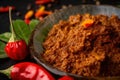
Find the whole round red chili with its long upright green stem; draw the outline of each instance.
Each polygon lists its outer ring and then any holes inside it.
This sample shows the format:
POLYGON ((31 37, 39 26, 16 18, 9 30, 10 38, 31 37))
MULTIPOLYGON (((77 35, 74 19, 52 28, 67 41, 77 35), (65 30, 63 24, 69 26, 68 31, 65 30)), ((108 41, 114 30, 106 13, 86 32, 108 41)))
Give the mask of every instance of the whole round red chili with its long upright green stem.
POLYGON ((5 46, 5 52, 11 59, 22 60, 28 55, 28 47, 24 40, 18 40, 13 29, 12 19, 11 19, 11 8, 9 11, 10 24, 12 35, 10 40, 5 46))

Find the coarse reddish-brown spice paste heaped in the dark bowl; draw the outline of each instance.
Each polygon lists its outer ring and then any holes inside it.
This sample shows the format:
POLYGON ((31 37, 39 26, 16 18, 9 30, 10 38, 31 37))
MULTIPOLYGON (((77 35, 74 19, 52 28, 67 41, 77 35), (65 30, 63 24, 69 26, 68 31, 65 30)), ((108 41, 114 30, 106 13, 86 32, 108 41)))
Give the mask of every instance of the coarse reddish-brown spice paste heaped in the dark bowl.
POLYGON ((115 15, 72 15, 53 26, 43 47, 45 61, 61 71, 120 76, 120 19, 115 15))

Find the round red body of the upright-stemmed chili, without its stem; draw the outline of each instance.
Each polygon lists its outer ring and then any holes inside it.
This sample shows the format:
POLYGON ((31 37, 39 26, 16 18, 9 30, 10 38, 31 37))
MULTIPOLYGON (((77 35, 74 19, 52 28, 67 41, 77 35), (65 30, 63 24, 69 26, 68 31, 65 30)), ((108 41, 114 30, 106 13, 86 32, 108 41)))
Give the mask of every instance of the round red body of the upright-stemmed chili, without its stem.
POLYGON ((5 46, 5 51, 9 58, 13 60, 22 60, 28 54, 28 47, 24 40, 8 42, 5 46))

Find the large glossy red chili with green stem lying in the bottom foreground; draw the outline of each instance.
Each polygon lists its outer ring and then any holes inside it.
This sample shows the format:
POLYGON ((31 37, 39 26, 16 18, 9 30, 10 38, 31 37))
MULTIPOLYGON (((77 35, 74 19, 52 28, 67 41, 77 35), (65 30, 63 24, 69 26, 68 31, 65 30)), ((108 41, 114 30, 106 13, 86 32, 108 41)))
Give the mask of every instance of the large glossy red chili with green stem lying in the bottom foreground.
POLYGON ((21 62, 1 72, 8 72, 12 80, 55 80, 47 70, 32 62, 21 62))

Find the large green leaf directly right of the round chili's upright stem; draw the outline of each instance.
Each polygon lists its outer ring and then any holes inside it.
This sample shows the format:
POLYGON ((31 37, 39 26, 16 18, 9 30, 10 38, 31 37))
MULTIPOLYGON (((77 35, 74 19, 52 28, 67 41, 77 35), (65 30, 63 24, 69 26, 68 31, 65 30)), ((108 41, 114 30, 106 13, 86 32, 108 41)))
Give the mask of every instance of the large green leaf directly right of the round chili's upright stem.
POLYGON ((28 44, 29 37, 30 37, 30 28, 23 20, 15 20, 13 21, 14 31, 21 39, 25 40, 28 44))

